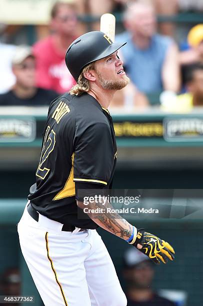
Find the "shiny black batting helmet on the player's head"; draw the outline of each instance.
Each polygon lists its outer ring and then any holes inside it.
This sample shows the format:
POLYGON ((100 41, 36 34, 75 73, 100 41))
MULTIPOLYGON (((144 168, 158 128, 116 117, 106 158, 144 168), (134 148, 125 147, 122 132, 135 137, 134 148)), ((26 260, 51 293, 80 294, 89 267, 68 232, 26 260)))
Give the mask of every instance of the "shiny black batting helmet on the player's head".
POLYGON ((65 63, 77 81, 84 66, 117 51, 126 42, 112 42, 103 32, 92 31, 75 39, 65 54, 65 63))

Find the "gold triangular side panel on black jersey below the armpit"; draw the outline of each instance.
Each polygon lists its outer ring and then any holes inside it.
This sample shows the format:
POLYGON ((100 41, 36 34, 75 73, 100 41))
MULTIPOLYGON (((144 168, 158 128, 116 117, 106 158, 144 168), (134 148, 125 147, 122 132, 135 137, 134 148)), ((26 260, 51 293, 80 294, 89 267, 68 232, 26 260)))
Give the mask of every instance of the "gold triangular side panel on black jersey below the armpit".
POLYGON ((70 173, 69 176, 66 180, 66 183, 64 185, 64 187, 62 188, 62 190, 60 190, 55 197, 53 198, 53 200, 57 200, 57 199, 61 199, 64 197, 68 197, 68 196, 73 196, 75 195, 75 183, 73 181, 73 161, 74 161, 74 153, 71 156, 72 159, 72 167, 70 169, 70 173))

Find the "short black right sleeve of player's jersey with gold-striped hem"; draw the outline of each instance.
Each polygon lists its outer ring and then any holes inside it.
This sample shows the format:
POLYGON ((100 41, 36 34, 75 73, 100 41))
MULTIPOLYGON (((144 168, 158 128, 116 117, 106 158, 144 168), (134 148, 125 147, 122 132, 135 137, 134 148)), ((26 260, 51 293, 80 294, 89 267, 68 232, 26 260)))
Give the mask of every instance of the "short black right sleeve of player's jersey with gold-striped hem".
POLYGON ((113 168, 113 140, 107 123, 89 125, 75 139, 73 180, 107 185, 113 168))

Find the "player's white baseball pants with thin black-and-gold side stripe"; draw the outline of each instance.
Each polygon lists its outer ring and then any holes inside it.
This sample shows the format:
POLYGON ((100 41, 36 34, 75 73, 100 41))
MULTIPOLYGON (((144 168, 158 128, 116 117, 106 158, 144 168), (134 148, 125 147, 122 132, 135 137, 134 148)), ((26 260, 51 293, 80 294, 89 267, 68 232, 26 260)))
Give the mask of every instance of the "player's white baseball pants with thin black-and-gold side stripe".
POLYGON ((45 306, 126 306, 115 268, 95 229, 61 231, 62 224, 27 212, 17 225, 22 254, 45 306))

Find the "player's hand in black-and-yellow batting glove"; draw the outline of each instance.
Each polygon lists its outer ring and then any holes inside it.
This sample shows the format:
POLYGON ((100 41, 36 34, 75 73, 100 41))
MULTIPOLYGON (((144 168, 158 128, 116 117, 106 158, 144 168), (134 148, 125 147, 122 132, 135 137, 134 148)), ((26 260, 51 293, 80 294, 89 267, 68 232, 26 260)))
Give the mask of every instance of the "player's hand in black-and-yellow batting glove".
POLYGON ((137 230, 136 240, 133 245, 143 254, 147 255, 154 263, 159 264, 159 259, 166 263, 167 259, 174 259, 174 249, 172 246, 151 234, 150 232, 144 231, 143 228, 137 230), (142 245, 142 248, 137 244, 142 245))

